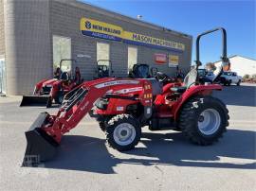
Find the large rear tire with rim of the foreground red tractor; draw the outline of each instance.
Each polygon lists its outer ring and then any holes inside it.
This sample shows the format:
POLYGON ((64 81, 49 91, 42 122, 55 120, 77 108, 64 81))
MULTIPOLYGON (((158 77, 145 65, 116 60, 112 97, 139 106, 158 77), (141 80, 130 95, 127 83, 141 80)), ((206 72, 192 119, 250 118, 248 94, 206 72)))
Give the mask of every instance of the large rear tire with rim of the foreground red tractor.
POLYGON ((229 126, 226 105, 212 96, 195 96, 181 110, 179 127, 194 144, 207 146, 218 141, 229 126))

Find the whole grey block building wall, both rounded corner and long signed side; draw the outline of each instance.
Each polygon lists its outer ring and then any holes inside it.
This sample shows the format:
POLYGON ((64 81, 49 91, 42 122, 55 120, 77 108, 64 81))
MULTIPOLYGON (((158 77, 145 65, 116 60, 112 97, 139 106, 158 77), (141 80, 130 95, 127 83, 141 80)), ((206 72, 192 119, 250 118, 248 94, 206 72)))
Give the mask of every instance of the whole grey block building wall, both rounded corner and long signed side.
MULTIPOLYGON (((123 27, 159 39, 185 44, 183 53, 137 46, 137 62, 154 64, 155 53, 172 53, 179 56, 179 67, 189 70, 191 63, 192 37, 164 30, 163 27, 146 24, 118 13, 98 9, 74 0, 0 0, 4 1, 5 55, 7 62, 7 94, 26 95, 33 91, 36 82, 53 76, 52 36, 71 38, 72 58, 78 61, 82 78, 92 79, 97 61, 97 42, 110 44, 110 60, 116 77, 127 77, 128 44, 83 36, 80 20, 88 17, 101 22, 123 27), (76 58, 78 54, 91 58, 76 58)), ((3 12, 3 11, 0 11, 3 12)), ((0 50, 1 51, 1 50, 0 50)), ((2 50, 3 51, 3 50, 2 50)), ((66 58, 68 59, 68 58, 66 58)), ((157 67, 168 75, 175 69, 168 64, 157 67)))

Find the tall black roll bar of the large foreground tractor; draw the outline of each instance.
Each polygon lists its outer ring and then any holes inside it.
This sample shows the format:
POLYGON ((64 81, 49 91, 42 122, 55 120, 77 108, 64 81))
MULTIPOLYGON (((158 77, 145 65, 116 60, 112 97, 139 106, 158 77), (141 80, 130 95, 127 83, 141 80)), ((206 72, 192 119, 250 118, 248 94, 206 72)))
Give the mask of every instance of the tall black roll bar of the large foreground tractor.
POLYGON ((221 60, 224 62, 228 62, 229 59, 227 57, 227 32, 226 29, 223 27, 217 27, 211 30, 208 30, 206 32, 203 32, 199 34, 196 38, 196 44, 195 44, 195 54, 196 54, 196 70, 200 65, 202 65, 202 62, 200 61, 200 39, 202 36, 205 36, 207 34, 210 34, 212 32, 220 30, 222 32, 222 57, 221 60))

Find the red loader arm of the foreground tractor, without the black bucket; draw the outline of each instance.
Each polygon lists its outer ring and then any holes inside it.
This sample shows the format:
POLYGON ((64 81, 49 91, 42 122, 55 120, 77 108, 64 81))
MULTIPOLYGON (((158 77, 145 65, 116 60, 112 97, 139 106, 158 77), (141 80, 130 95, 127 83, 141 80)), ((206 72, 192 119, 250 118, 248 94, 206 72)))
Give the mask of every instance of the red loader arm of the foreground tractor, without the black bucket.
MULTIPOLYGON (((77 93, 64 103, 57 115, 51 116, 54 121, 53 124, 49 127, 46 125, 43 129, 60 143, 62 135, 79 124, 82 118, 93 108, 98 98, 105 96, 107 92, 109 95, 112 91, 144 87, 144 85, 150 85, 150 83, 147 80, 141 79, 117 78, 105 78, 104 80, 98 79, 84 82, 77 93)), ((143 90, 142 88, 142 92, 144 92, 143 90)), ((137 97, 141 100, 142 105, 151 104, 151 102, 143 101, 143 95, 142 93, 137 97)))

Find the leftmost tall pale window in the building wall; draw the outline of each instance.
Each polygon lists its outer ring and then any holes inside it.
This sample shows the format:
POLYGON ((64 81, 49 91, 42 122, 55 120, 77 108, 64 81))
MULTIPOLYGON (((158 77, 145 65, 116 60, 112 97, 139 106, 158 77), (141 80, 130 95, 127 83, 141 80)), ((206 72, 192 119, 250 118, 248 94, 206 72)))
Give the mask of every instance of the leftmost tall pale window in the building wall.
MULTIPOLYGON (((63 59, 71 59, 71 39, 62 36, 53 35, 53 70, 60 67, 60 62, 63 59)), ((71 61, 63 61, 62 71, 67 72, 71 70, 71 61)))

